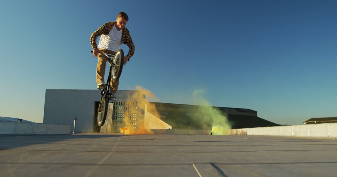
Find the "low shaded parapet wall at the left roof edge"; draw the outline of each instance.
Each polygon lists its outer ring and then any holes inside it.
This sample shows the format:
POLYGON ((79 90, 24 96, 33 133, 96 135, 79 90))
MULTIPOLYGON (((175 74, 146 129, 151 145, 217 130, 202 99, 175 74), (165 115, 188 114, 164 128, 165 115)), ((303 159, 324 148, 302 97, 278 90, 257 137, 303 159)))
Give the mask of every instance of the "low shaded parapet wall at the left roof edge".
POLYGON ((0 134, 70 134, 70 126, 0 121, 0 134))

